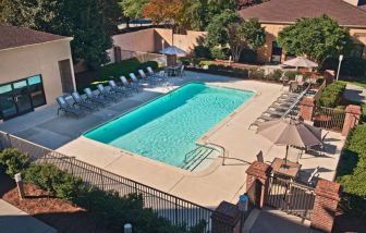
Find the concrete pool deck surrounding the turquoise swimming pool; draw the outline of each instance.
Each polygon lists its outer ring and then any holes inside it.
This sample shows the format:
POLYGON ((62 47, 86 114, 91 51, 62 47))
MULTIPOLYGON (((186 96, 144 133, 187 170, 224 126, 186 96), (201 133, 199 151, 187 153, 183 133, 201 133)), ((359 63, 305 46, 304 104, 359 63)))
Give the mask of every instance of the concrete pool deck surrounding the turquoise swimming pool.
MULTIPOLYGON (((255 134, 255 127, 248 130, 248 126, 285 88, 277 84, 194 72, 187 72, 186 77, 172 78, 170 82, 173 87, 146 88, 134 97, 84 119, 57 116, 57 107, 50 106, 1 123, 0 130, 206 207, 215 208, 222 200, 236 203, 239 195, 245 192, 245 171, 249 162, 256 160, 259 150, 264 151, 266 161, 284 157, 284 147, 273 146, 255 134), (224 147, 229 156, 225 165, 221 164, 221 158, 217 158, 208 169, 188 172, 80 136, 102 122, 192 81, 257 93, 235 114, 231 114, 199 139, 199 143, 224 147)), ((331 139, 326 142, 326 155, 304 155, 300 163, 303 164, 302 170, 307 172, 313 172, 320 165, 320 177, 333 180, 344 137, 331 132, 328 138, 331 139)), ((289 158, 296 161, 297 151, 290 150, 289 158)))

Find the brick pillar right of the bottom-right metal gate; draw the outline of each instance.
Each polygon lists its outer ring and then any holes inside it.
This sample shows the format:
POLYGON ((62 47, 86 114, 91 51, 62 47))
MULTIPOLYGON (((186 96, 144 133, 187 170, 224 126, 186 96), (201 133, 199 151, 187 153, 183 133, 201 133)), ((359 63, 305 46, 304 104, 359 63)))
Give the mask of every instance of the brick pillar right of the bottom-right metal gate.
POLYGON ((335 210, 341 199, 341 185, 319 180, 315 187, 315 203, 312 214, 312 228, 324 232, 331 232, 335 218, 335 210))

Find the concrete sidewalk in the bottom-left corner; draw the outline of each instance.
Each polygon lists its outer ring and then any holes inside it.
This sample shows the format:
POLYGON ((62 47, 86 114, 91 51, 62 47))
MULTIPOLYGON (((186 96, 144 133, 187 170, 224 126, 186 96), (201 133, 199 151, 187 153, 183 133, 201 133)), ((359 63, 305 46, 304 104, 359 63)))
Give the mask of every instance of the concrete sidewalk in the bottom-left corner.
POLYGON ((56 233, 57 230, 0 199, 0 232, 56 233))

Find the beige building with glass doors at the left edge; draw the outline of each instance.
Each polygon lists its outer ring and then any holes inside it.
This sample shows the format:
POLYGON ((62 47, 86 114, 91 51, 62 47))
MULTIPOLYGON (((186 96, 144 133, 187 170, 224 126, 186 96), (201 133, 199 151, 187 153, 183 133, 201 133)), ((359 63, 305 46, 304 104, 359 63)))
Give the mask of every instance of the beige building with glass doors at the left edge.
POLYGON ((0 118, 56 102, 75 89, 71 37, 0 25, 0 118))

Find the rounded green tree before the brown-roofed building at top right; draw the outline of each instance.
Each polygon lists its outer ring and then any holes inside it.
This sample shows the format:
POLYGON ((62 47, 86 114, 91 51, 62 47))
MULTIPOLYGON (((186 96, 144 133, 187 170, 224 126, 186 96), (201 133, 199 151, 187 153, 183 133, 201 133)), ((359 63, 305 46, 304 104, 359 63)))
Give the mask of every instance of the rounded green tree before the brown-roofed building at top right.
POLYGON ((297 20, 279 33, 278 41, 285 51, 317 61, 319 68, 328 58, 347 54, 352 48, 349 29, 328 15, 297 20))

